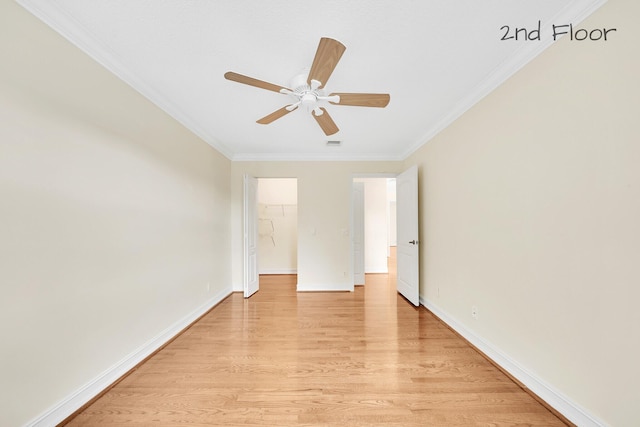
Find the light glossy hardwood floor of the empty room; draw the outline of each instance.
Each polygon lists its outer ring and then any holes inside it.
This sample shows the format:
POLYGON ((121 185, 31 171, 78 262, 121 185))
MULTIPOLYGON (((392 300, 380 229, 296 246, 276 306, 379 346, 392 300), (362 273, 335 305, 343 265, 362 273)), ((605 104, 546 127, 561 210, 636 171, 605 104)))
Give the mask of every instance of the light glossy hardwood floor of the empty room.
POLYGON ((353 293, 295 283, 231 295, 68 425, 565 425, 394 275, 353 293))

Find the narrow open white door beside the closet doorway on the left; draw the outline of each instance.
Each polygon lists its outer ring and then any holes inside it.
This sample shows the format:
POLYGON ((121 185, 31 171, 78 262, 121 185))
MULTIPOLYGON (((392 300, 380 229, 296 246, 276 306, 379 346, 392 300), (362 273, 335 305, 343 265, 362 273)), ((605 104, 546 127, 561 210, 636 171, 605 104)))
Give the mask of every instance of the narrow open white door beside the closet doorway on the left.
POLYGON ((244 176, 244 297, 258 291, 258 180, 244 176))

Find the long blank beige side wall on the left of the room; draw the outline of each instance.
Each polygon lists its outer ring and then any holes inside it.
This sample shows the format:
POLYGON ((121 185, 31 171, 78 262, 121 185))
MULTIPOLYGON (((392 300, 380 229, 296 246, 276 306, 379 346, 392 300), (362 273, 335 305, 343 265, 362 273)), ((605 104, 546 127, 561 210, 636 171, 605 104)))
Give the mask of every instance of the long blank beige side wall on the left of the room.
POLYGON ((0 61, 0 425, 18 426, 230 292, 231 162, 13 2, 0 61))

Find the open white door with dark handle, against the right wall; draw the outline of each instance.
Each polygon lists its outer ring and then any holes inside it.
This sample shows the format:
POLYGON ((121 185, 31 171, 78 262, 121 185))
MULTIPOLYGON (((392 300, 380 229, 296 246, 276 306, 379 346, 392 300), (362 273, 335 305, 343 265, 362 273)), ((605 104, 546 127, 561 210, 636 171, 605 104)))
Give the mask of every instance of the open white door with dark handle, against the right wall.
POLYGON ((396 178, 398 292, 413 305, 420 305, 418 245, 418 167, 396 178))

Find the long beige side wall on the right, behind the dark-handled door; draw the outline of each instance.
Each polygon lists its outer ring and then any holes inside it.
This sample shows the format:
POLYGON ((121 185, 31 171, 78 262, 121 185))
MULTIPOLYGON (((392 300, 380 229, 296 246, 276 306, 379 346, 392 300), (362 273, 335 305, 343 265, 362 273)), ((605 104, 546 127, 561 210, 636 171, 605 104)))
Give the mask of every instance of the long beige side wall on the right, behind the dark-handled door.
POLYGON ((610 0, 580 25, 610 41, 559 41, 405 163, 422 297, 614 426, 640 425, 638 16, 610 0))

